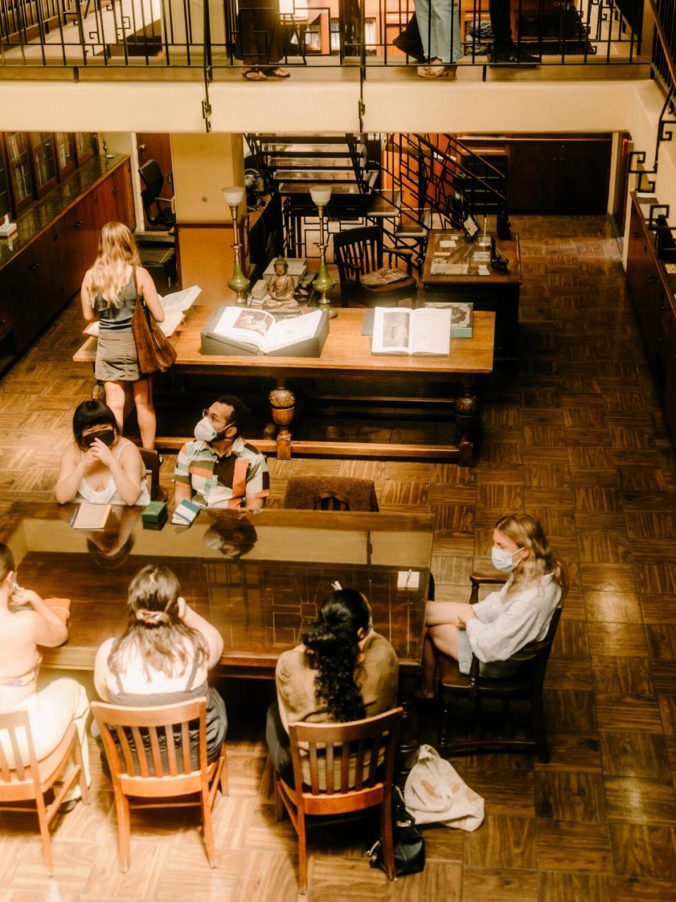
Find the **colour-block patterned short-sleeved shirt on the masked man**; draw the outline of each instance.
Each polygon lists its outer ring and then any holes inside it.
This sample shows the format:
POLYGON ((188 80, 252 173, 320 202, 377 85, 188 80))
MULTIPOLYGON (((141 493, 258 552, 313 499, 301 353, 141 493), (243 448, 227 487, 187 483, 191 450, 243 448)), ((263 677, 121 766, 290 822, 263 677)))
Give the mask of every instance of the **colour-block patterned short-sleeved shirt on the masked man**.
POLYGON ((247 498, 267 498, 269 473, 265 457, 241 437, 219 457, 212 446, 196 439, 178 452, 174 482, 190 485, 200 507, 237 508, 247 498))

